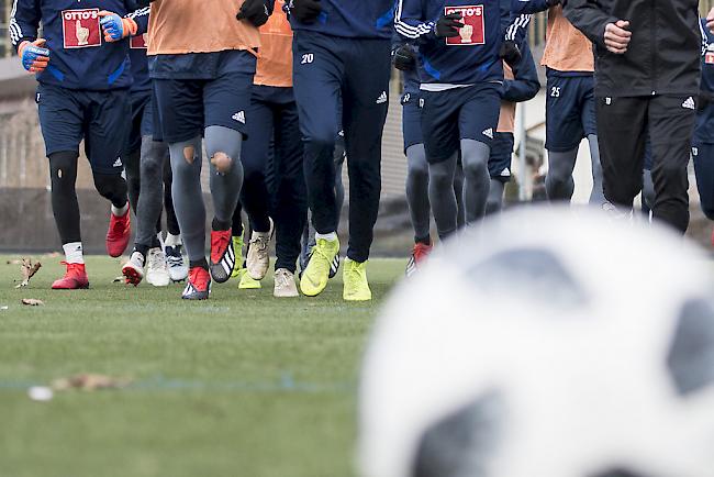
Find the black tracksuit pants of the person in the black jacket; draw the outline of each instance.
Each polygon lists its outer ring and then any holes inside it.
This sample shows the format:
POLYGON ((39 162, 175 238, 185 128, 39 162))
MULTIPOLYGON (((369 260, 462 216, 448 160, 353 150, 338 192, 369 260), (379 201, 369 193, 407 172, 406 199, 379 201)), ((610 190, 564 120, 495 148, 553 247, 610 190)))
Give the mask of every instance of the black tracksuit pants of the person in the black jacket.
POLYGON ((689 226, 691 137, 696 115, 689 96, 598 98, 598 135, 605 198, 632 208, 643 188, 645 142, 652 147, 655 219, 684 233, 689 226))

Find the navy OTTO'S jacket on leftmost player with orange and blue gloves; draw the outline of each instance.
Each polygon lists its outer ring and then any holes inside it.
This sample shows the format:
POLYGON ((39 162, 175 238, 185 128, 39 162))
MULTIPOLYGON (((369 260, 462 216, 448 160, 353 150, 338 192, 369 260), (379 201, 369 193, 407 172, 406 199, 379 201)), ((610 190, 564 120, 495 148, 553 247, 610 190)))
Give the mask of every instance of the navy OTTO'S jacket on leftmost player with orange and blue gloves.
POLYGON ((134 0, 16 0, 10 20, 15 48, 37 38, 40 23, 49 48, 49 65, 37 75, 42 84, 68 89, 110 90, 132 85, 129 40, 105 43, 99 11, 126 15, 134 0))

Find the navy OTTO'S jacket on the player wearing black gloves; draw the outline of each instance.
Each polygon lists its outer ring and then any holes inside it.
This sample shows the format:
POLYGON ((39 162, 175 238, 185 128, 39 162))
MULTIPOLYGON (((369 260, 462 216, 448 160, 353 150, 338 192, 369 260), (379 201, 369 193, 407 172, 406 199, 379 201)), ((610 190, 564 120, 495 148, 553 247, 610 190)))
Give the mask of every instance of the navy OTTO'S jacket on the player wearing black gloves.
MULTIPOLYGON (((501 0, 482 0, 472 7, 472 0, 399 0, 394 25, 406 41, 419 46, 424 75, 422 82, 471 85, 503 81, 499 51, 504 40, 501 0), (460 9, 464 8, 464 9, 460 9), (467 10, 468 8, 468 10, 467 10), (461 11, 471 35, 465 40, 438 38, 434 32, 437 20, 446 12, 461 11), (449 44, 453 42, 453 44, 449 44)), ((527 20, 527 19, 526 19, 527 20)), ((510 30, 509 38, 516 38, 517 30, 527 21, 510 30)))

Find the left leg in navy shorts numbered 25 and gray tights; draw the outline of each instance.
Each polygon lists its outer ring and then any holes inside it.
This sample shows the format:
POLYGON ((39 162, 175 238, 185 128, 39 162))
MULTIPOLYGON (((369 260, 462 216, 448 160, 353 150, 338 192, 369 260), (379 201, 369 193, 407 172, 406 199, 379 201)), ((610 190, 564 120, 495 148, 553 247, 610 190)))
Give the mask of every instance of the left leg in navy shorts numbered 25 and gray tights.
POLYGON ((548 69, 546 89, 546 193, 550 201, 570 201, 574 191, 572 171, 584 137, 581 77, 561 76, 548 69))

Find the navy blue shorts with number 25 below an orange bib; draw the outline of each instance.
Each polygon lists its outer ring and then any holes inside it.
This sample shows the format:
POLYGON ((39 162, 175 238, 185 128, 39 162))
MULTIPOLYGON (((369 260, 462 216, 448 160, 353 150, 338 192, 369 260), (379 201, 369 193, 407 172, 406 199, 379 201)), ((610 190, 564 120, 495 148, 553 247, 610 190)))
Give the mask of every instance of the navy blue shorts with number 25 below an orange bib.
POLYGON ((548 71, 546 99, 546 149, 572 151, 598 134, 594 80, 588 76, 559 76, 548 71))

